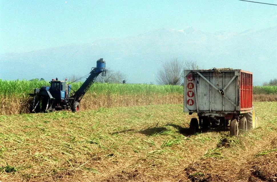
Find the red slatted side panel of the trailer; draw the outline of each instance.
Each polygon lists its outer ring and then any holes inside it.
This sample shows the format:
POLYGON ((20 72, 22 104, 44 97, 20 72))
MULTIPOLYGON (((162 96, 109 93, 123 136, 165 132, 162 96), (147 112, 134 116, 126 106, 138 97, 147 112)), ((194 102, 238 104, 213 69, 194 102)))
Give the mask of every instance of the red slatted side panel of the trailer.
POLYGON ((240 72, 240 109, 249 110, 252 108, 252 73, 240 72))

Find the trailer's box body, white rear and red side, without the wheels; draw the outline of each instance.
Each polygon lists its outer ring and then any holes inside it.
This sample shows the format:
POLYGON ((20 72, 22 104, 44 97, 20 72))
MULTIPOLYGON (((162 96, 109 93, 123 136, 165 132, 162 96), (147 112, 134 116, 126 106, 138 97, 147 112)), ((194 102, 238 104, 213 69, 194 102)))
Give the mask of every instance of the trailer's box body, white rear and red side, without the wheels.
POLYGON ((252 73, 232 69, 184 70, 184 112, 235 114, 251 109, 252 73))

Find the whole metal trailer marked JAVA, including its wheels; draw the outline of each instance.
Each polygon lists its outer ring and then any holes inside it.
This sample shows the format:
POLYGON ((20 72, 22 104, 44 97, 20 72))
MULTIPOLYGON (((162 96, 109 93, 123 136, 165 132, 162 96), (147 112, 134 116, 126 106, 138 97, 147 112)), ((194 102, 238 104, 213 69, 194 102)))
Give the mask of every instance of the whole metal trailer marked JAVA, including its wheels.
POLYGON ((184 70, 184 112, 197 112, 190 132, 229 127, 230 135, 256 127, 252 106, 252 73, 233 69, 184 70))

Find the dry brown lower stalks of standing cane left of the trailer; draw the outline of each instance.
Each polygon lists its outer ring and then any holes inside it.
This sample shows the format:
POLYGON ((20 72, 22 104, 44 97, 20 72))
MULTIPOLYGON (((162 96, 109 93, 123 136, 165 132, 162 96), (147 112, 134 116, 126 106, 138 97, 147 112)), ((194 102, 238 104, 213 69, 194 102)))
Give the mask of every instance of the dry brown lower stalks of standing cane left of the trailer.
MULTIPOLYGON (((29 113, 32 98, 29 96, 9 95, 0 98, 0 115, 29 113)), ((125 106, 144 106, 158 104, 181 104, 183 96, 177 93, 169 94, 136 94, 120 95, 107 94, 97 95, 87 93, 81 101, 82 110, 91 110, 101 107, 125 107, 125 106)))

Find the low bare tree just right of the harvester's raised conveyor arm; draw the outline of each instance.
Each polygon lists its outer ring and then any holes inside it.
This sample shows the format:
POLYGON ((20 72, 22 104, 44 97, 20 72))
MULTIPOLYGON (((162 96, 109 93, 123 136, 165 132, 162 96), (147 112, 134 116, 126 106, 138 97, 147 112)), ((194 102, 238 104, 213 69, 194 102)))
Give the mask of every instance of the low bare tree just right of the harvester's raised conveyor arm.
POLYGON ((106 76, 101 76, 101 74, 97 77, 96 82, 101 83, 122 83, 123 80, 126 82, 126 76, 120 71, 114 71, 111 69, 107 69, 106 76))

